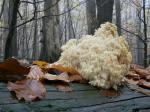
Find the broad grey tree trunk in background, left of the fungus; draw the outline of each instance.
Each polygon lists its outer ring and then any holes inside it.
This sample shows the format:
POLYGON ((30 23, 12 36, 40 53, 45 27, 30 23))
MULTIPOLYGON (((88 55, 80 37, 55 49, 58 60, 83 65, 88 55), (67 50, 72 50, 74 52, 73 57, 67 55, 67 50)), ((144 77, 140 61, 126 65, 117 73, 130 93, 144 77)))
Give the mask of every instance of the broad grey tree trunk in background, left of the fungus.
POLYGON ((59 16, 50 16, 57 15, 59 13, 58 4, 55 4, 57 0, 44 0, 44 14, 43 18, 43 39, 42 39, 42 49, 41 49, 41 58, 43 60, 54 62, 58 60, 60 56, 60 39, 59 39, 59 16), (55 6, 51 7, 53 4, 55 6), (51 8, 49 8, 51 7, 51 8))

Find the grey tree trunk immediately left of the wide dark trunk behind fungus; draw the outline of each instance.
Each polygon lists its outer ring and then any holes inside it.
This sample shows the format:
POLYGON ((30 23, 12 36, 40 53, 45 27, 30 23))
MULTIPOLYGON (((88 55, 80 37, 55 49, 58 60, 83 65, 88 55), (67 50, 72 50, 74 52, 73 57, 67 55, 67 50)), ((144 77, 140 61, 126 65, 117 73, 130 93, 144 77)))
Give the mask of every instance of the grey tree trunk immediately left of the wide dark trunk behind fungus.
POLYGON ((88 34, 94 34, 96 29, 95 0, 86 0, 86 17, 87 17, 88 34))

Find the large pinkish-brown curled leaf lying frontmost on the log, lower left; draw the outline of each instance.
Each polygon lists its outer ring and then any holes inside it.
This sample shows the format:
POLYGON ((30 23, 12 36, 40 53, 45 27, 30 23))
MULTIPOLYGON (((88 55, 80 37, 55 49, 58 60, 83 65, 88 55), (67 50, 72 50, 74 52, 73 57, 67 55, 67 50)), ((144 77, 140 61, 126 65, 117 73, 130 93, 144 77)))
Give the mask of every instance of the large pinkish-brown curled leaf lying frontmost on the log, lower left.
POLYGON ((43 84, 38 80, 22 80, 15 83, 8 82, 9 91, 14 91, 16 97, 25 101, 32 101, 36 98, 43 98, 46 90, 43 84))

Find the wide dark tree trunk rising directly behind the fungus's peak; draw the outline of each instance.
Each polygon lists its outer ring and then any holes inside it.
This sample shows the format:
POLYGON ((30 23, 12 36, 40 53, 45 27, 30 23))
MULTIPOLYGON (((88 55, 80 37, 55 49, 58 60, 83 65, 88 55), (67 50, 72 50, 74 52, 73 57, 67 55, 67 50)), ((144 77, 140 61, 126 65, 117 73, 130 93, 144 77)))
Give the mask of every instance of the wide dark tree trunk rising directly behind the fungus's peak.
POLYGON ((97 27, 109 21, 112 22, 114 0, 96 0, 97 27))

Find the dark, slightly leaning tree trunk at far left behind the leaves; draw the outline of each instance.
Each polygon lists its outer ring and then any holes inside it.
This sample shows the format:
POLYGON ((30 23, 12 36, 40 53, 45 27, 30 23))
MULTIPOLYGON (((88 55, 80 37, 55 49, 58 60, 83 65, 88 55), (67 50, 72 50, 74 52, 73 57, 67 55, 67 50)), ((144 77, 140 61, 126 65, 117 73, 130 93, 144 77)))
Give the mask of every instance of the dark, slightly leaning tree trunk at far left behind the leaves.
POLYGON ((17 56, 16 24, 20 0, 10 0, 9 2, 9 33, 5 44, 5 58, 17 56))

